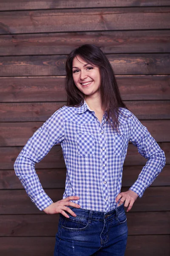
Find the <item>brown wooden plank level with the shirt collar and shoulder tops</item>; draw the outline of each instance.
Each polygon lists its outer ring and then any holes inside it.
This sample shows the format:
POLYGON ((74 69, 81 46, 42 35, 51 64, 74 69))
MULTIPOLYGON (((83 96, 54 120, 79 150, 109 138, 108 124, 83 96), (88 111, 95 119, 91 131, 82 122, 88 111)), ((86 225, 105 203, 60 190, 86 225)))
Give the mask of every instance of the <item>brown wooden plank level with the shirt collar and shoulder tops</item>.
MULTIPOLYGON (((170 101, 124 101, 138 119, 170 119, 170 101)), ((0 122, 45 122, 66 102, 0 103, 0 122)), ((7 125, 7 124, 6 124, 7 125)), ((12 124, 11 124, 12 125, 12 124)), ((10 124, 7 125, 8 127, 10 124)), ((3 127, 0 124, 0 127, 3 127)))

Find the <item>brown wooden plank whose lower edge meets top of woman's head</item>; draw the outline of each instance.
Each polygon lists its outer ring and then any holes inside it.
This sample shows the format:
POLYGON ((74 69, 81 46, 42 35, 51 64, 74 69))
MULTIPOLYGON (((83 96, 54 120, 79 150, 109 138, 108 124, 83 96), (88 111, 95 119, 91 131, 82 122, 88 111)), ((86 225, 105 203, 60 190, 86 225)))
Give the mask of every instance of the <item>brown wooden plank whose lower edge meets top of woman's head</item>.
POLYGON ((0 55, 69 54, 82 44, 95 44, 105 54, 170 52, 170 33, 168 30, 130 30, 0 35, 0 55))

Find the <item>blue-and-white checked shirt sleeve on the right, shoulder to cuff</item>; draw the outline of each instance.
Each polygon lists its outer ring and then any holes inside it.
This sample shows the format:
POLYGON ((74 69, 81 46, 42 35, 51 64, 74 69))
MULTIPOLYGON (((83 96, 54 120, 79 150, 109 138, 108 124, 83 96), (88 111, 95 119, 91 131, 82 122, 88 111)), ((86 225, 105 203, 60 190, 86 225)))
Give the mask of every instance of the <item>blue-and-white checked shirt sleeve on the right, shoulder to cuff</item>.
POLYGON ((138 148, 139 153, 147 159, 147 163, 142 168, 138 179, 130 187, 130 190, 136 192, 141 198, 144 190, 153 183, 164 167, 165 155, 156 140, 136 116, 132 115, 131 118, 132 126, 129 140, 138 148))

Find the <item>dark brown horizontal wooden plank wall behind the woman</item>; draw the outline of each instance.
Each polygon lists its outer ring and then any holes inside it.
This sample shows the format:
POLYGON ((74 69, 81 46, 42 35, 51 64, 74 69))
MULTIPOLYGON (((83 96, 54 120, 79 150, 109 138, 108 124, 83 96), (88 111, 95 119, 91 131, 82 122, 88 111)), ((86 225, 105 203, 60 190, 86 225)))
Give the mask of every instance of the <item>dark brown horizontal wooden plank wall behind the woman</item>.
MULTIPOLYGON (((170 1, 0 1, 0 255, 52 256, 58 215, 40 212, 13 164, 21 149, 65 104, 67 54, 85 43, 108 56, 127 107, 165 151, 167 165, 127 213, 126 256, 170 255, 170 1)), ((146 163, 130 144, 123 191, 146 163)), ((36 170, 60 200, 65 163, 54 146, 36 170)))

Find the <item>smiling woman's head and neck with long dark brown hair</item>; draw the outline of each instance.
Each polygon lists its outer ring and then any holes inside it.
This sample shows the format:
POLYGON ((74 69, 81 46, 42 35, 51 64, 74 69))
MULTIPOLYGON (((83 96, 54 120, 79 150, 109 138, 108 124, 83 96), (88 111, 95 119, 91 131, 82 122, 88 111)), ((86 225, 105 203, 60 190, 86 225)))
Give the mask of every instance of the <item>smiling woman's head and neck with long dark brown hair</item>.
POLYGON ((95 105, 95 114, 100 122, 105 114, 112 128, 118 129, 119 107, 126 106, 111 64, 102 50, 93 44, 84 44, 68 55, 65 68, 67 105, 79 105, 85 99, 89 107, 95 105), (90 81, 91 84, 86 84, 90 81))

